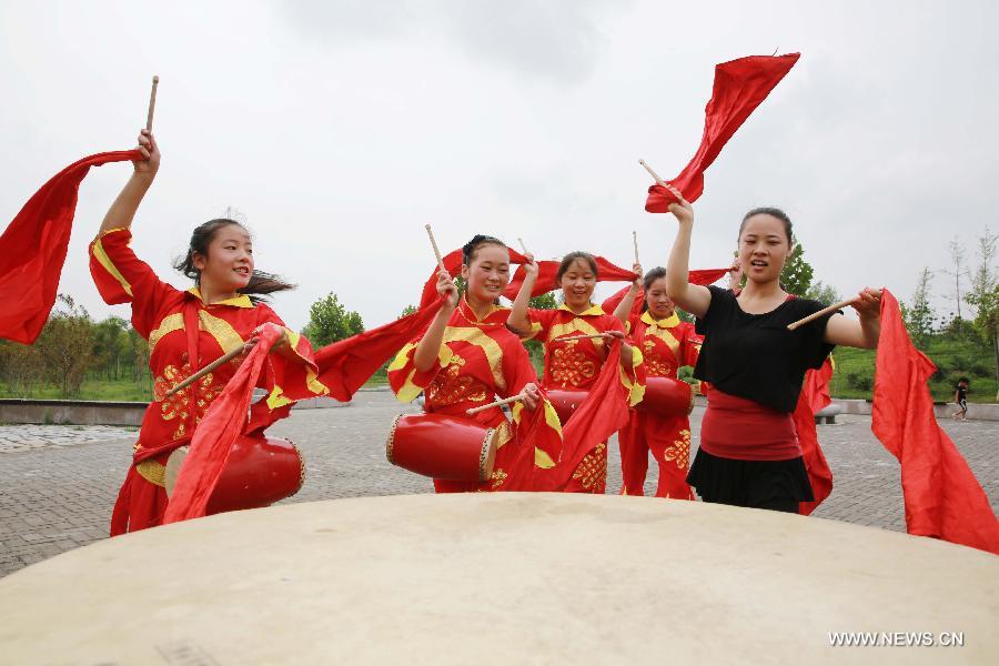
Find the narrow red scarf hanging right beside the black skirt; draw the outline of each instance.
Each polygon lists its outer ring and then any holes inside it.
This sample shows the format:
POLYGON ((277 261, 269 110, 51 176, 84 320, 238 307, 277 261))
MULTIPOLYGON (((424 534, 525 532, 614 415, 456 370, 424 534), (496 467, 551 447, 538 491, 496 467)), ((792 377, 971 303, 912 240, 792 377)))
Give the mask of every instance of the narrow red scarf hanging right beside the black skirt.
POLYGON ((805 373, 805 384, 801 386, 801 395, 795 407, 795 430, 798 432, 798 444, 801 446, 801 457, 805 460, 805 471, 811 483, 811 493, 815 502, 799 502, 798 513, 803 516, 814 512, 826 497, 833 493, 833 471, 818 443, 818 432, 815 427, 816 413, 826 408, 833 402, 829 396, 829 380, 833 379, 833 361, 826 359, 819 370, 809 370, 805 373))

